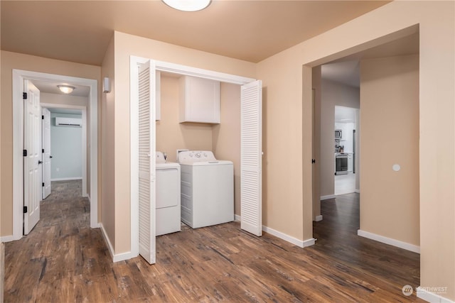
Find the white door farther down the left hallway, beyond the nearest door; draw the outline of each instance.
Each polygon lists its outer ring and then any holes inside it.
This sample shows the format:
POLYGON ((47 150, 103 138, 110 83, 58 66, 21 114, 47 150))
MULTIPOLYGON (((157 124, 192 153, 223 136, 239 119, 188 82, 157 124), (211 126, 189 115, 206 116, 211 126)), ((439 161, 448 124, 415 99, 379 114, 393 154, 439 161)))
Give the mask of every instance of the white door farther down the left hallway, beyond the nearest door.
POLYGON ((42 110, 43 199, 50 194, 50 111, 42 110))

